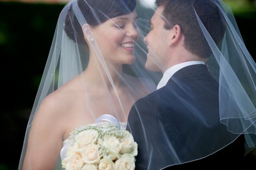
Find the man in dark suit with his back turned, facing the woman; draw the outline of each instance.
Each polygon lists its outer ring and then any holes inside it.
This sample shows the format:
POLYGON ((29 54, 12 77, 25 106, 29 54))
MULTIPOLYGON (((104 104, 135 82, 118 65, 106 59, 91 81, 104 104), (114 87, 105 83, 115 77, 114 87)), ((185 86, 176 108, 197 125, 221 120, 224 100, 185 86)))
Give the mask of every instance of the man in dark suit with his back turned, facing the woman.
POLYGON ((151 31, 144 38, 145 67, 163 77, 158 89, 129 113, 127 130, 138 143, 137 170, 230 167, 244 154, 244 137, 220 123, 218 83, 205 65, 211 49, 192 2, 216 43, 225 32, 211 0, 156 0, 151 31))

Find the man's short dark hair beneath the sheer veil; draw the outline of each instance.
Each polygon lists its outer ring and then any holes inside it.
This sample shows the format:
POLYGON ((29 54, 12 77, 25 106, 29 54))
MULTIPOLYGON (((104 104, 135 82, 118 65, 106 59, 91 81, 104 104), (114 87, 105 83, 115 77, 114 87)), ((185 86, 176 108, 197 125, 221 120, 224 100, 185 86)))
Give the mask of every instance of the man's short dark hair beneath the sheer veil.
POLYGON ((224 33, 222 15, 212 0, 156 0, 157 6, 163 6, 164 28, 180 26, 185 37, 185 49, 202 58, 207 58, 212 51, 198 24, 195 10, 208 33, 218 43, 224 33))

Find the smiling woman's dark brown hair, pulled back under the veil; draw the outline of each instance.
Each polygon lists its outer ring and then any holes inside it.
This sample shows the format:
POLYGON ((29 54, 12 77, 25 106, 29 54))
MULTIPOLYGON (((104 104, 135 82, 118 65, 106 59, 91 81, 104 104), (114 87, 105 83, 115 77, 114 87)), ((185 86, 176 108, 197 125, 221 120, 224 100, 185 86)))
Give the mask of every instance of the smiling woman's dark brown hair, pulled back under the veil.
MULTIPOLYGON (((136 0, 77 0, 79 10, 90 26, 97 26, 106 20, 131 13, 136 6, 136 0)), ((81 25, 73 7, 70 7, 66 20, 65 32, 70 39, 86 44, 81 25)))

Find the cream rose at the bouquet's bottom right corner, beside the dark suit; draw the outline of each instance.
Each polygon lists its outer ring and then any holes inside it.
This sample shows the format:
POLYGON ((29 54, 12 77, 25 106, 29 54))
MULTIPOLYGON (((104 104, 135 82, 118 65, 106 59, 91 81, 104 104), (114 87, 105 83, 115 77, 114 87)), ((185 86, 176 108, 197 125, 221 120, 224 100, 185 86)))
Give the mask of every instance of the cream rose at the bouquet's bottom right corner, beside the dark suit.
POLYGON ((123 154, 115 162, 115 170, 134 170, 135 169, 135 158, 130 153, 123 154))

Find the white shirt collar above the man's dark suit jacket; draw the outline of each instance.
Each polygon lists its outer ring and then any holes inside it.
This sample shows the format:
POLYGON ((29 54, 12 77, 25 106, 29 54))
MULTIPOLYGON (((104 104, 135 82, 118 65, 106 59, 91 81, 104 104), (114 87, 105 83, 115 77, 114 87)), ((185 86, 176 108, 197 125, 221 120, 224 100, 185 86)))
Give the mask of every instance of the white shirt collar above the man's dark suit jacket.
POLYGON ((181 68, 191 66, 191 65, 196 65, 196 64, 205 64, 203 61, 188 61, 184 63, 179 63, 177 65, 174 65, 173 67, 168 68, 166 71, 163 73, 163 77, 161 78, 160 82, 158 83, 157 89, 162 88, 167 84, 169 79, 176 73, 178 70, 181 68))

